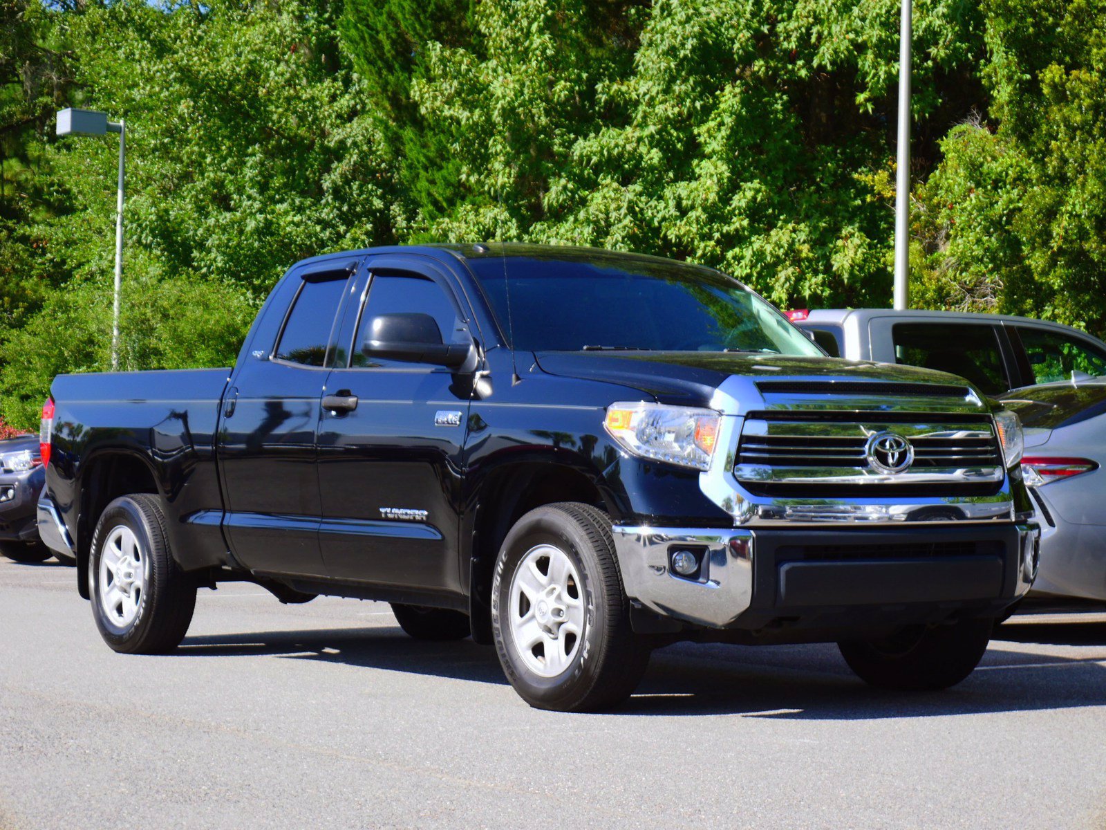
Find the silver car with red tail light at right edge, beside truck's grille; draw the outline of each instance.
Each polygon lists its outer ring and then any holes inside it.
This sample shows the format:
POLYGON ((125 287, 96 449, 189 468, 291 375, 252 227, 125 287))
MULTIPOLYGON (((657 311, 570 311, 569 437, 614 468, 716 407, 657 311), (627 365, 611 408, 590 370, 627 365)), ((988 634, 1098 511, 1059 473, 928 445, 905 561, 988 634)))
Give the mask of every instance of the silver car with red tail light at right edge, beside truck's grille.
POLYGON ((1044 520, 1033 595, 1106 600, 1106 378, 1002 401, 1025 425, 1022 470, 1044 520))

